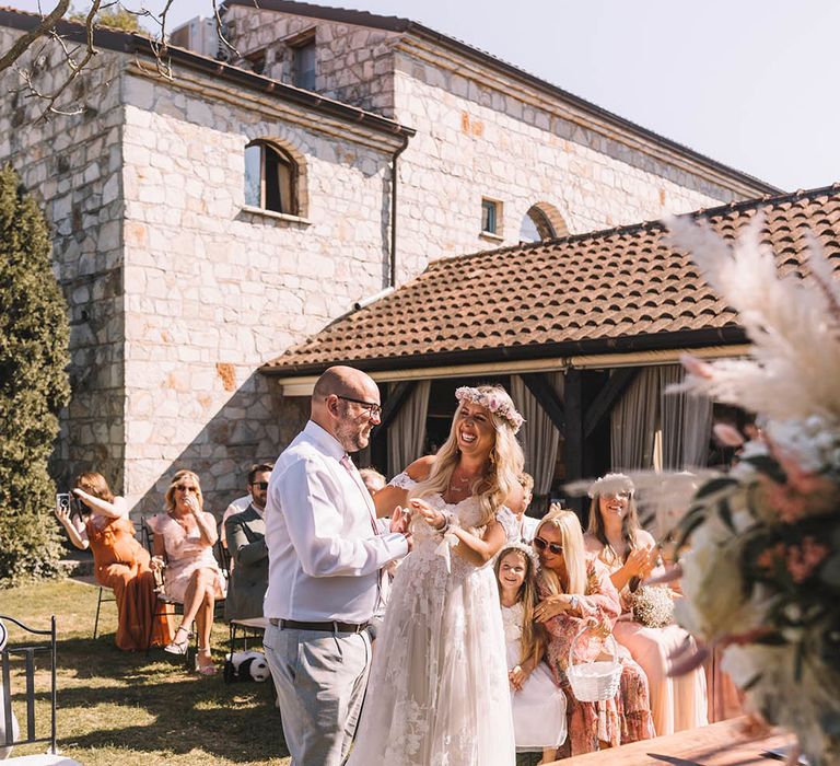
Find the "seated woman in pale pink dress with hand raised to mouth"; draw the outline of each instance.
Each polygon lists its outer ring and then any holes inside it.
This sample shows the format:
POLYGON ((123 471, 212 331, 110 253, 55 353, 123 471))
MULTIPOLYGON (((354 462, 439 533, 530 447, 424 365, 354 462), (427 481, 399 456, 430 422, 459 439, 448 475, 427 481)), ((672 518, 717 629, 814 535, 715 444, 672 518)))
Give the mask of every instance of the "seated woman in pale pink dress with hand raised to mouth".
POLYGON ((217 541, 215 520, 203 510, 203 496, 198 476, 178 471, 165 496, 166 513, 149 520, 154 532, 152 568, 166 566, 164 593, 184 604, 184 617, 175 638, 164 647, 172 654, 186 654, 192 637, 192 623, 198 625, 198 671, 215 673, 210 654, 213 605, 224 599, 225 583, 213 557, 217 541))

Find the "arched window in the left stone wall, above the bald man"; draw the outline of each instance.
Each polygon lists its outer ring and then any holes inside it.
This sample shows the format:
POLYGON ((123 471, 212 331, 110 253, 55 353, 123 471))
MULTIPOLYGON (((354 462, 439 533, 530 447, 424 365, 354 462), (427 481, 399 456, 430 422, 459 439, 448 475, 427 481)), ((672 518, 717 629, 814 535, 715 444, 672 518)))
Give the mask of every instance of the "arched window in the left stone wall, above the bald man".
POLYGON ((245 205, 298 216, 298 164, 268 141, 245 147, 245 205))

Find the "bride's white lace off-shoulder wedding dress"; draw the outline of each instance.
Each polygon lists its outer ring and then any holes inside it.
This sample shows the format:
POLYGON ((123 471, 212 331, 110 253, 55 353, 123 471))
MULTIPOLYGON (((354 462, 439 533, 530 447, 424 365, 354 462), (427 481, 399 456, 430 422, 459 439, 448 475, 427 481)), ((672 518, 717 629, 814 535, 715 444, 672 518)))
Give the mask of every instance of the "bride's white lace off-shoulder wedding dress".
MULTIPOLYGON (((392 484, 411 489, 400 474, 392 484)), ((474 526, 478 502, 425 498, 474 526)), ((499 514, 510 534, 513 514, 499 514)), ((412 522, 415 547, 398 567, 376 637, 348 766, 513 766, 515 745, 504 631, 492 565, 476 567, 412 522), (451 570, 451 571, 450 571, 451 570)))

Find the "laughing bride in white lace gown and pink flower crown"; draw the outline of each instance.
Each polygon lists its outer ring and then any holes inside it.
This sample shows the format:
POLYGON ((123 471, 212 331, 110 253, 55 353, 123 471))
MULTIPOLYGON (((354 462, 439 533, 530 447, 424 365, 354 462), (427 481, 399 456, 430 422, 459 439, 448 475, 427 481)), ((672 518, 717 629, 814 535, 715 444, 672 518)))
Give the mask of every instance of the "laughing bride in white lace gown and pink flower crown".
POLYGON ((502 617, 490 560, 522 502, 522 425, 497 386, 455 392, 439 453, 376 495, 412 514, 348 766, 511 766, 515 762, 502 617))

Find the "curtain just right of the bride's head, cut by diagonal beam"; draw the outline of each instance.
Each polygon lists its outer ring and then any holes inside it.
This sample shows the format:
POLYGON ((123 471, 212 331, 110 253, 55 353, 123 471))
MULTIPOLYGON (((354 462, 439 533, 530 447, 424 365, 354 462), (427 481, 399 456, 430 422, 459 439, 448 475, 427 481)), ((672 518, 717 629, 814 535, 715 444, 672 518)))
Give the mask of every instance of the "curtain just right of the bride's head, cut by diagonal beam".
MULTIPOLYGON (((547 378, 562 402, 563 373, 552 372, 547 378)), ((555 477, 560 432, 520 375, 511 376, 511 396, 525 418, 518 438, 525 453, 525 471, 534 477, 534 495, 548 495, 555 477)))

